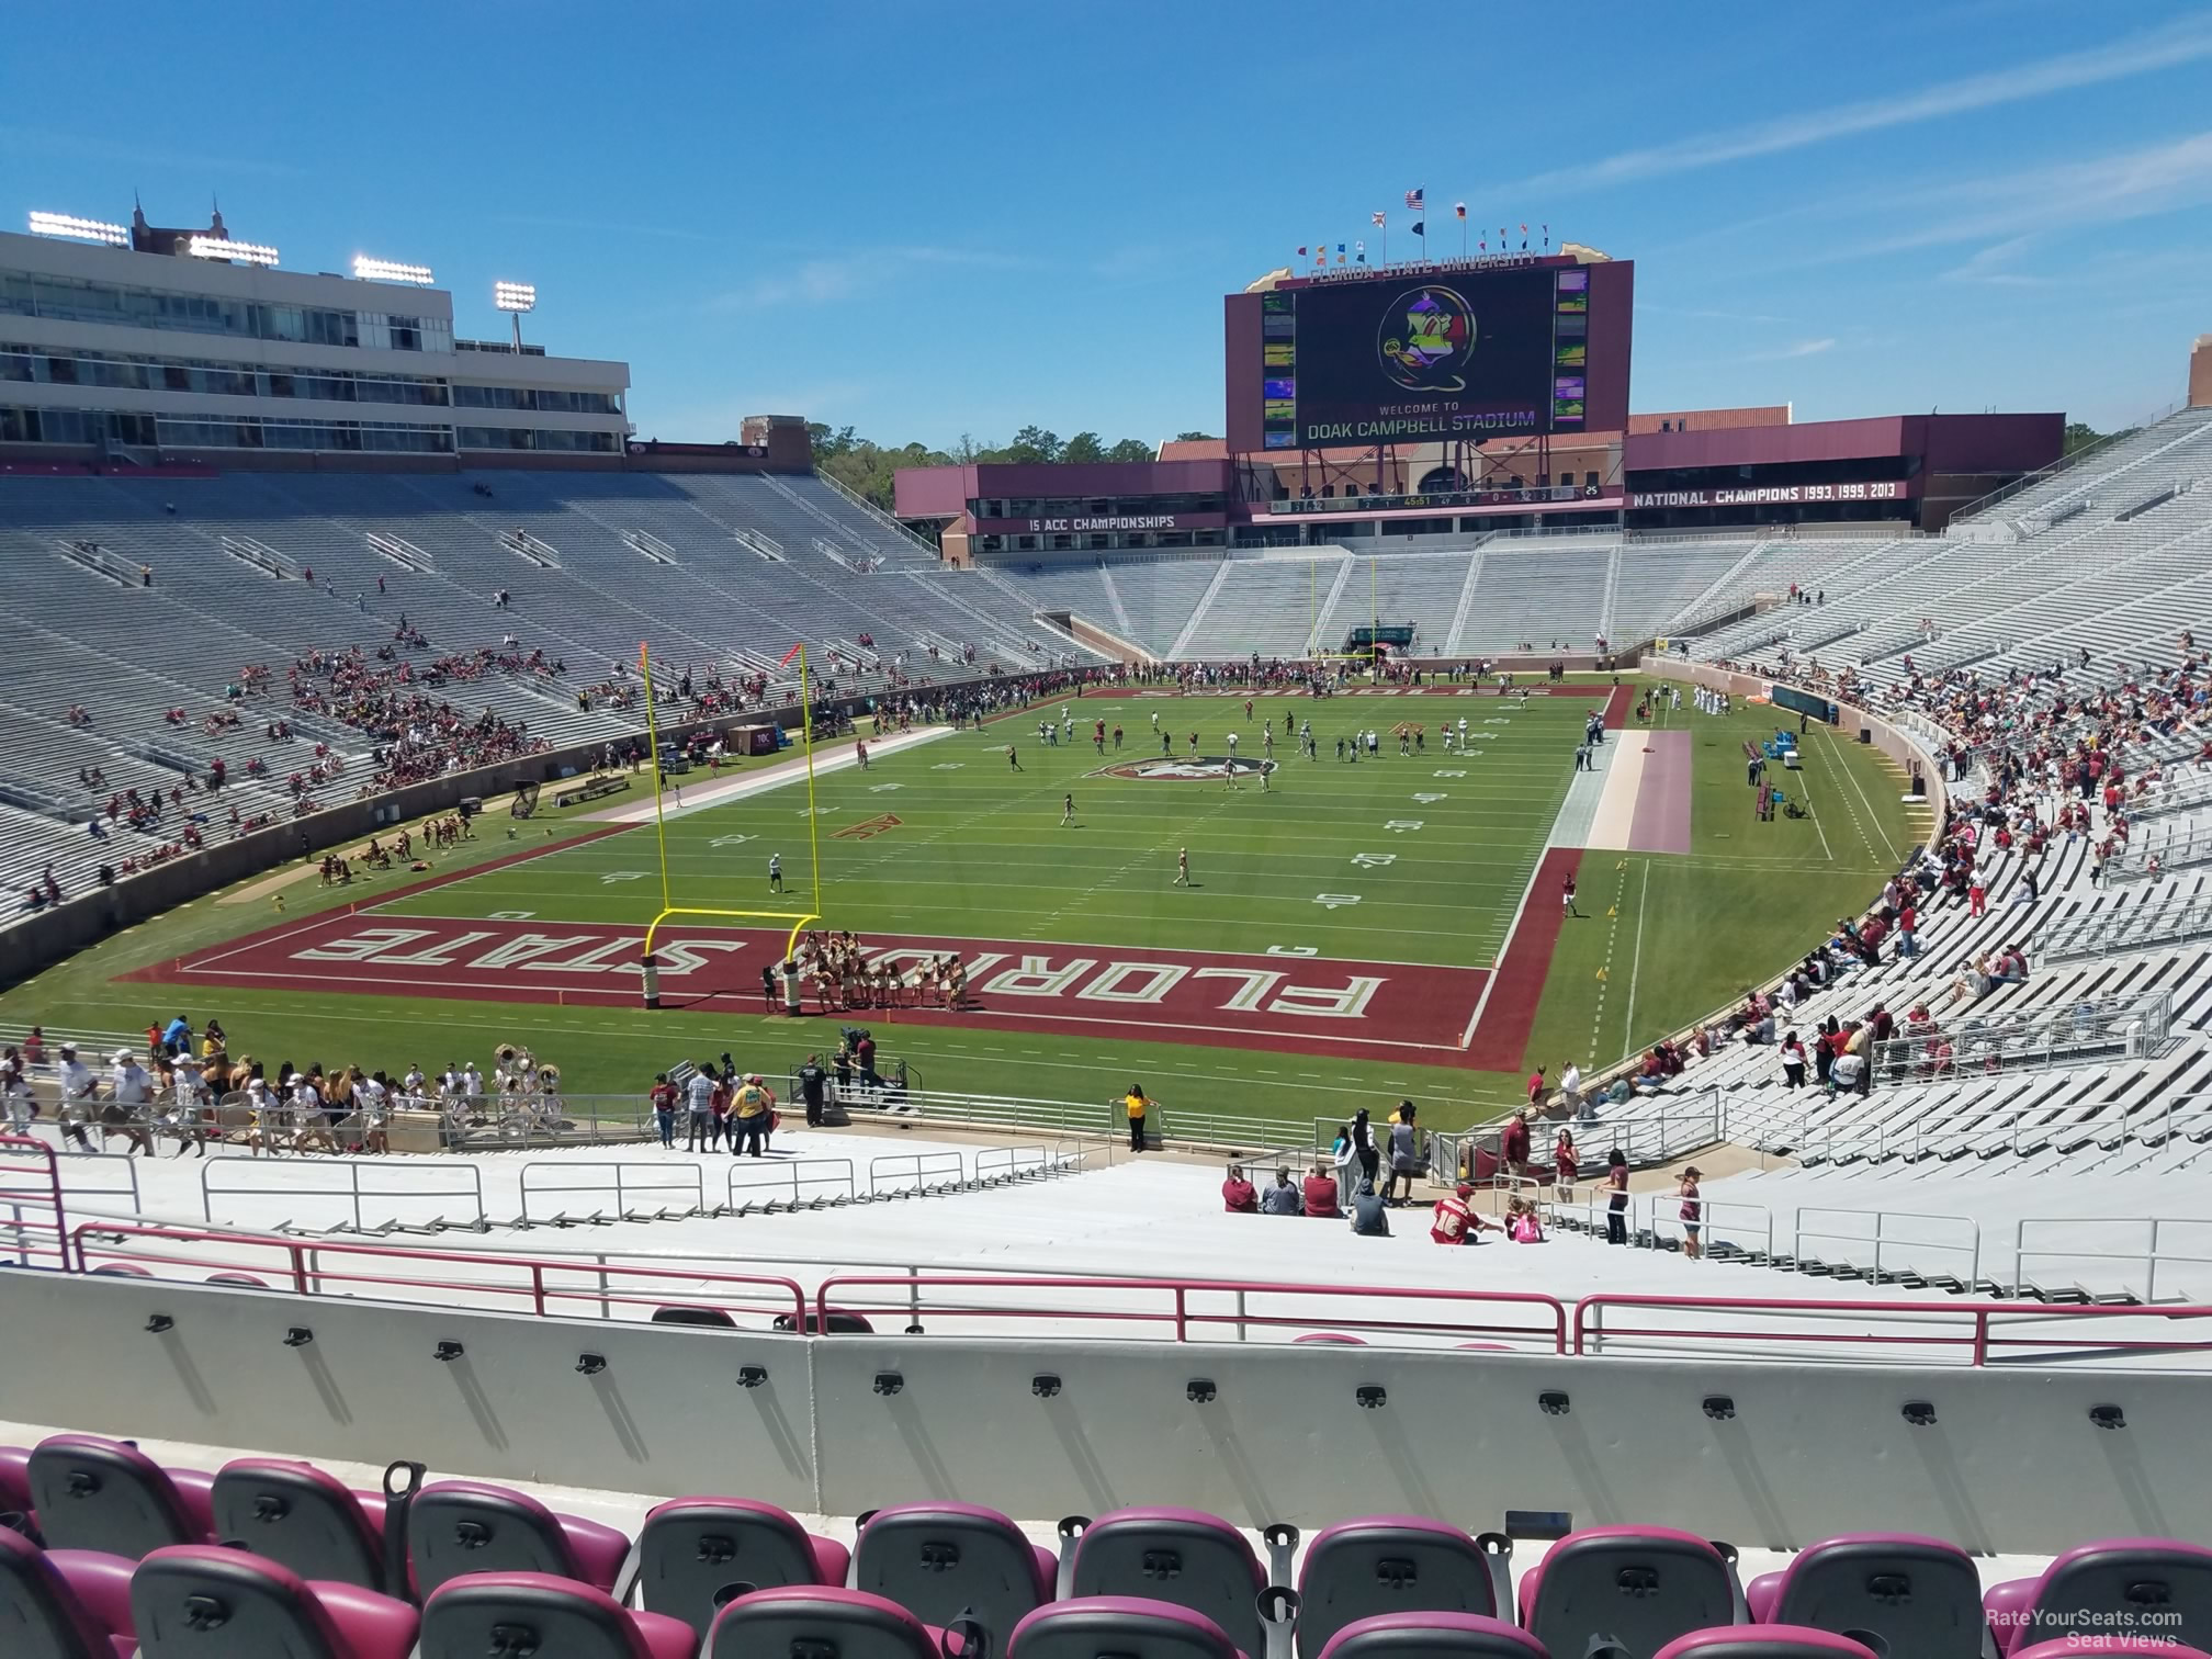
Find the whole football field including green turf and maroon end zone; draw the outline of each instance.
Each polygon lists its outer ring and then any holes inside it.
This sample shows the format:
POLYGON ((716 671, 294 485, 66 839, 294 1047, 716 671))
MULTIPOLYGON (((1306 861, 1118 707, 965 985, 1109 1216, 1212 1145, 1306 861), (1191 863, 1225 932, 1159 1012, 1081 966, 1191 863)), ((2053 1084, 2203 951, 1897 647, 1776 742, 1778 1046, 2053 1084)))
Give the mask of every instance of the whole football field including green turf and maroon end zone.
POLYGON ((1790 774, 1812 812, 1747 830, 1743 743, 1772 717, 1659 712, 1661 734, 1632 697, 1444 688, 1248 712, 1243 695, 1097 692, 887 737, 867 768, 852 739, 823 743, 812 805, 790 750, 690 772, 659 825, 637 774, 611 801, 487 814, 427 874, 294 883, 281 916, 179 911, 7 1009, 113 1029, 117 1002, 181 1004, 243 1022, 257 1055, 389 1071, 529 1042, 577 1095, 723 1051, 779 1075, 867 1024, 929 1091, 1093 1102, 1144 1082, 1170 1108, 1290 1121, 1413 1095, 1473 1119, 1531 1064, 1606 1064, 1765 978, 1911 841, 1887 763, 1827 732, 1790 774), (1577 774, 1595 712, 1608 741, 1577 774), (1666 852, 1626 834, 1655 810, 1679 818, 1666 852), (1564 876, 1582 883, 1571 916, 1564 876), (661 927, 648 1011, 639 956, 664 902, 717 914, 661 927), (967 1006, 823 1006, 810 987, 783 1015, 763 969, 799 916, 900 973, 958 958, 967 1006))

